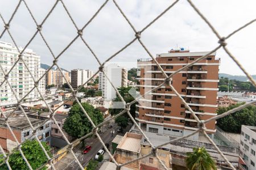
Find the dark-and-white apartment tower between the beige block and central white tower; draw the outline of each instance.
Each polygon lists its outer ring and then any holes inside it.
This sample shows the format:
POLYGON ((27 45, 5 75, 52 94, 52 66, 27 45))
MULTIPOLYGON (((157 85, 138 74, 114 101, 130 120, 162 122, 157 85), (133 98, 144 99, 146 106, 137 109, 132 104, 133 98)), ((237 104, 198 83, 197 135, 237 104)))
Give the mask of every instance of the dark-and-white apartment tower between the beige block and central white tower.
MULTIPOLYGON (((88 80, 88 70, 84 69, 73 69, 71 70, 71 86, 78 88, 88 80)), ((87 86, 85 84, 84 86, 87 86)))

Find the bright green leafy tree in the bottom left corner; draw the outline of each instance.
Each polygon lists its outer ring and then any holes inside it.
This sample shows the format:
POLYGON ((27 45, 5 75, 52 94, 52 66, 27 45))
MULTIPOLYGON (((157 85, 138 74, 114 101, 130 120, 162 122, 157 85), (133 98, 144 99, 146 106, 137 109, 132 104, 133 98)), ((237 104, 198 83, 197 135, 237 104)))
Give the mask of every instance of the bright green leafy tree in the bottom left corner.
MULTIPOLYGON (((46 149, 49 156, 51 155, 51 148, 46 144, 46 142, 41 142, 43 147, 46 149)), ((30 163, 32 169, 37 169, 43 164, 47 163, 47 157, 44 154, 42 148, 40 147, 38 141, 35 139, 30 141, 26 141, 22 144, 21 147, 28 163, 30 163)), ((0 163, 1 163, 1 156, 0 156, 0 163)), ((29 169, 27 167, 26 162, 23 160, 22 156, 20 155, 19 151, 14 151, 12 155, 10 155, 9 163, 12 169, 29 169)), ((4 164, 0 167, 0 169, 7 169, 7 165, 4 164)), ((44 167, 43 169, 47 169, 44 167)))

